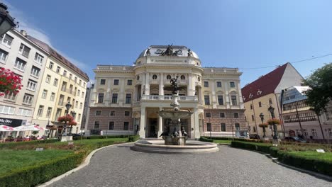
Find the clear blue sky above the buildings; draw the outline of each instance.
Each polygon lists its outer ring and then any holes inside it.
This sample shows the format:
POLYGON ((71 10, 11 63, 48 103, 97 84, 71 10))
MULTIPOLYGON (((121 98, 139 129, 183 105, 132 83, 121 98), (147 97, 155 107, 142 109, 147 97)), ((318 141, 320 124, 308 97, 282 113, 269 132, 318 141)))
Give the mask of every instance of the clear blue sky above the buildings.
MULTIPOLYGON (((48 42, 90 79, 96 64, 131 65, 150 45, 185 45, 204 67, 238 67, 241 86, 275 65, 332 53, 332 1, 4 2, 19 29, 48 42)), ((328 55, 293 65, 307 77, 331 62, 328 55)))

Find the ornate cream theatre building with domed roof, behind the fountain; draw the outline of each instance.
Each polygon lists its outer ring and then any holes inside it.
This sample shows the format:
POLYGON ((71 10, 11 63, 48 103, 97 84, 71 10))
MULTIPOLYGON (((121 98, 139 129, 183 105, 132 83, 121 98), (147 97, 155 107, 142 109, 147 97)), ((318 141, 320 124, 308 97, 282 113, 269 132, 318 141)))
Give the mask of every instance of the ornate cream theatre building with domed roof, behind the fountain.
MULTIPOLYGON (((192 111, 181 123, 189 138, 232 137, 246 130, 240 75, 236 68, 202 67, 185 46, 152 45, 133 66, 97 65, 85 130, 92 134, 157 138, 170 119, 170 79, 178 77, 179 103, 192 111)), ((160 137, 161 138, 161 137, 160 137)))

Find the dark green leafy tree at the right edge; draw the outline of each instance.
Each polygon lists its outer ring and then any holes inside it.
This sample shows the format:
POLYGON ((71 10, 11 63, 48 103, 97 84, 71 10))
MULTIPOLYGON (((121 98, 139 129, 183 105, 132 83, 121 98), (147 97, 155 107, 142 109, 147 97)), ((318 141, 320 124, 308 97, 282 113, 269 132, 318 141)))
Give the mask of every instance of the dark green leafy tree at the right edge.
POLYGON ((308 97, 306 104, 311 106, 311 110, 317 115, 326 112, 328 102, 332 101, 332 63, 316 69, 304 80, 304 84, 310 87, 305 92, 308 97))

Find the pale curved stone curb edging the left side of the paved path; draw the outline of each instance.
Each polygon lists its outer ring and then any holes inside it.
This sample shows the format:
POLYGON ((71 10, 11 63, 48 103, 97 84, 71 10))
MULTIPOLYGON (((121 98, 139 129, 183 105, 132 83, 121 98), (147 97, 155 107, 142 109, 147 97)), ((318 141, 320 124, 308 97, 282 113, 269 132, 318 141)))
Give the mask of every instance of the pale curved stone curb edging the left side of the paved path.
POLYGON ((69 176, 70 174, 74 173, 75 171, 79 171, 79 169, 84 168, 85 166, 89 165, 90 163, 90 159, 92 158, 92 156, 94 156, 94 154, 96 152, 98 152, 101 149, 107 148, 107 147, 115 147, 115 146, 119 146, 119 145, 127 145, 127 144, 132 144, 133 142, 129 142, 129 143, 123 143, 123 144, 117 144, 117 145, 107 145, 105 147, 100 147, 99 149, 94 149, 92 152, 90 152, 90 154, 87 156, 87 158, 84 160, 84 162, 82 162, 81 164, 79 164, 79 166, 75 167, 74 169, 67 171, 65 174, 62 174, 60 176, 56 176, 55 178, 51 179, 50 181, 47 181, 45 183, 42 183, 40 185, 38 185, 38 187, 45 187, 48 186, 56 181, 59 181, 62 178, 65 178, 66 176, 69 176))

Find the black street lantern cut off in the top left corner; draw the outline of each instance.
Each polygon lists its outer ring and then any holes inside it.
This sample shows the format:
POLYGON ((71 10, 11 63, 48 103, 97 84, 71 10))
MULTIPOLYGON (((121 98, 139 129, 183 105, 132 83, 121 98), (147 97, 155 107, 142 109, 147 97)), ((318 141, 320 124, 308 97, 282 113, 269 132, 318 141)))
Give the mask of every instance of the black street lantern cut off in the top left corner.
POLYGON ((7 8, 5 4, 0 3, 0 35, 3 35, 12 28, 18 27, 18 22, 14 22, 15 18, 9 15, 7 8))

